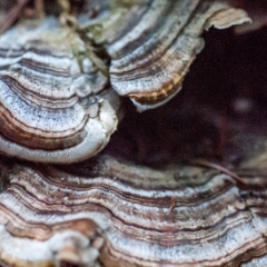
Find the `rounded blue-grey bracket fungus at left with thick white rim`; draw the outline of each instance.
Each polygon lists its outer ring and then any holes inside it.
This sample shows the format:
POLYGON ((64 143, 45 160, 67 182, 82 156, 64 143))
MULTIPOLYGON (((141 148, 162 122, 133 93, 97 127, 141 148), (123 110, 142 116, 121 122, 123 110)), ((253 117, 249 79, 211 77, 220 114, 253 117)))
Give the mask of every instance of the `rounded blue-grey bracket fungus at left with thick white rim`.
POLYGON ((69 164, 96 155, 117 128, 116 93, 75 32, 47 18, 0 38, 0 150, 69 164), (18 36, 20 36, 18 40, 18 36))

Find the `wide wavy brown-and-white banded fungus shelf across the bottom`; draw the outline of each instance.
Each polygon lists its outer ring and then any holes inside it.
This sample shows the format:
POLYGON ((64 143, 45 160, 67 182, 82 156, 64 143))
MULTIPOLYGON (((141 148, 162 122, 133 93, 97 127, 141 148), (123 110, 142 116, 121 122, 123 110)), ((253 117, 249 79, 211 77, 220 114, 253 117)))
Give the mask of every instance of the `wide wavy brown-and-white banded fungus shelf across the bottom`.
MULTIPOLYGON (((1 159, 3 266, 265 263, 266 175, 99 157, 75 166, 1 159)), ((264 266, 253 265, 244 266, 264 266)))

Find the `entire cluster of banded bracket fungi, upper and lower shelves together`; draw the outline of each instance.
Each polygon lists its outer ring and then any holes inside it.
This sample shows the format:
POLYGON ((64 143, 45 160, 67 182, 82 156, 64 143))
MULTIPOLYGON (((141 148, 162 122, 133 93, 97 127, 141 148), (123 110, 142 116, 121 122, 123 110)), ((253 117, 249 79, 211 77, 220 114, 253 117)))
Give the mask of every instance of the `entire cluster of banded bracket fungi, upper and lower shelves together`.
MULTIPOLYGON (((73 14, 58 2, 60 12, 22 16, 0 36, 0 266, 266 266, 265 148, 234 170, 99 154, 120 97, 139 111, 168 102, 204 30, 249 23, 246 11, 111 0, 73 14)), ((0 8, 4 18, 12 7, 0 8)))

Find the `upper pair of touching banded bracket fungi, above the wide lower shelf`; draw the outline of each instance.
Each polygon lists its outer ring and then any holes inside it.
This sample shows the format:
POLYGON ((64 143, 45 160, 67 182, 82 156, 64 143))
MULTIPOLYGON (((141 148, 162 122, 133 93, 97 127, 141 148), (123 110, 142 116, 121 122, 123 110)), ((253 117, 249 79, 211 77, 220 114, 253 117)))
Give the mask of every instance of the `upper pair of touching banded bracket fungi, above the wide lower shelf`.
POLYGON ((111 1, 107 19, 89 24, 101 26, 99 36, 53 17, 20 21, 0 37, 0 150, 55 164, 97 155, 117 129, 112 89, 139 110, 162 105, 202 48, 205 28, 247 21, 224 1, 162 0, 111 1), (101 69, 107 59, 93 53, 98 41, 110 57, 109 73, 101 69))

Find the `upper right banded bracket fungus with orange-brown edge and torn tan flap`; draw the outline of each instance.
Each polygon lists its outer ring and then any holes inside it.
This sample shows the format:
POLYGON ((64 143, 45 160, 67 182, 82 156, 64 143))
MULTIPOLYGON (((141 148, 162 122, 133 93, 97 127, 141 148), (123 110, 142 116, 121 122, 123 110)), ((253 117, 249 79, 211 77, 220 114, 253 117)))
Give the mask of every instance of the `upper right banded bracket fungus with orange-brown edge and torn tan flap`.
POLYGON ((103 23, 99 39, 106 41, 111 58, 113 89, 130 97, 139 111, 164 105, 180 90, 204 48, 204 30, 250 22, 244 10, 226 1, 151 0, 139 4, 127 6, 112 23, 103 23))

